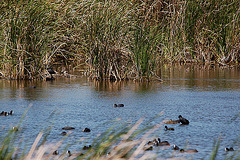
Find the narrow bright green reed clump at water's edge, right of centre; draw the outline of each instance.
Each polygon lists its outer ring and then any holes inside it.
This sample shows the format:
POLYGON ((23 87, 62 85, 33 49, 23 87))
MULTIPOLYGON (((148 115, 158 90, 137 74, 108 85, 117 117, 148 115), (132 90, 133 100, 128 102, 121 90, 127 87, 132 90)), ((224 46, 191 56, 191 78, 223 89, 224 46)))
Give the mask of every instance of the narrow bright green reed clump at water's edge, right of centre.
POLYGON ((150 75, 156 66, 157 46, 159 45, 158 27, 136 26, 133 30, 133 43, 131 50, 136 66, 137 78, 146 78, 150 75))

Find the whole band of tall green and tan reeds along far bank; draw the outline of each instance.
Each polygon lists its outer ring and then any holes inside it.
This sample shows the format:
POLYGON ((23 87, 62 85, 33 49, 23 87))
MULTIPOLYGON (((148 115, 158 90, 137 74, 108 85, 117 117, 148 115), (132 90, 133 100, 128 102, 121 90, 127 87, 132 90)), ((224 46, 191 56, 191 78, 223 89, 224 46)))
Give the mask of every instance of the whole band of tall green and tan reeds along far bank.
POLYGON ((235 65, 239 12, 238 0, 3 1, 0 77, 46 79, 66 65, 96 79, 149 80, 163 63, 235 65))

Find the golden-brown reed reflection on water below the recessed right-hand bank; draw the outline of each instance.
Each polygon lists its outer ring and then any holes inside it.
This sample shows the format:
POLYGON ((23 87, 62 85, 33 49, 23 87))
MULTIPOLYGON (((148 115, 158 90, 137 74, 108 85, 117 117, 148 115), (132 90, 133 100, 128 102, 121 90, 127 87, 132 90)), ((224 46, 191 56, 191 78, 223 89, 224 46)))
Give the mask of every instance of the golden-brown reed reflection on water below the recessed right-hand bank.
POLYGON ((240 73, 237 67, 219 66, 164 66, 161 69, 164 80, 170 85, 182 85, 186 88, 239 89, 240 73))

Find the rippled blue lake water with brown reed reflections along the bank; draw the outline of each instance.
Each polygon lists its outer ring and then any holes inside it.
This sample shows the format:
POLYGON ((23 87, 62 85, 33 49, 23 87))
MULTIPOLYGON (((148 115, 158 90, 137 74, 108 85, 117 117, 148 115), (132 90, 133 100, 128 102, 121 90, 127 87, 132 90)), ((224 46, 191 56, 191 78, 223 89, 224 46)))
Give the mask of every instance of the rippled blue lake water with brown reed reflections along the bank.
MULTIPOLYGON (((113 124, 145 121, 160 112, 163 115, 151 121, 158 124, 166 119, 178 119, 182 115, 189 125, 170 124, 175 131, 161 130, 156 137, 181 148, 195 148, 199 152, 184 154, 193 159, 209 159, 214 141, 221 139, 217 159, 227 154, 225 147, 240 149, 240 69, 213 66, 163 66, 158 74, 164 82, 139 83, 89 81, 86 77, 57 79, 47 82, 17 82, 0 80, 0 111, 14 110, 12 116, 0 116, 0 134, 16 126, 29 105, 21 125, 25 145, 30 147, 42 129, 52 127, 49 141, 57 142, 62 127, 76 129, 67 143, 84 138, 73 144, 71 150, 89 145, 97 135, 113 124), (36 88, 29 88, 36 85, 36 88), (114 108, 123 103, 123 108, 114 108), (54 114, 52 115, 52 113, 54 114), (120 122, 121 122, 120 121, 120 122), (88 127, 90 133, 82 130, 88 127)), ((142 127, 145 123, 143 122, 142 127)), ((155 149, 161 158, 179 155, 171 148, 155 149)))

